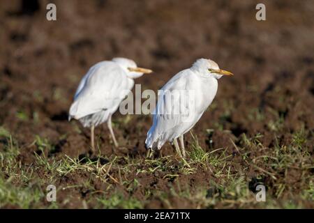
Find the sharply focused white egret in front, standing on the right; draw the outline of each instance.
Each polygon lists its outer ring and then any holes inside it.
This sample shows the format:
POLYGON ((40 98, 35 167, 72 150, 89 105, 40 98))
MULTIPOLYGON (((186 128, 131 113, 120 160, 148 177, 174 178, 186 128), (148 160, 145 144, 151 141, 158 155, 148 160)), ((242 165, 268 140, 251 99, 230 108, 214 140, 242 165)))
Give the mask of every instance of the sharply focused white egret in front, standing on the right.
POLYGON ((147 132, 146 147, 160 149, 166 141, 170 141, 177 153, 186 157, 184 134, 193 128, 211 105, 218 88, 217 80, 223 75, 233 74, 220 70, 217 63, 209 59, 197 59, 191 68, 174 75, 160 90, 162 93, 158 96, 153 125, 147 132), (181 93, 176 94, 178 91, 181 93), (179 97, 176 98, 176 95, 179 97), (176 105, 179 112, 175 109, 176 105), (187 113, 182 112, 182 108, 187 113), (180 139, 182 153, 177 138, 180 139))

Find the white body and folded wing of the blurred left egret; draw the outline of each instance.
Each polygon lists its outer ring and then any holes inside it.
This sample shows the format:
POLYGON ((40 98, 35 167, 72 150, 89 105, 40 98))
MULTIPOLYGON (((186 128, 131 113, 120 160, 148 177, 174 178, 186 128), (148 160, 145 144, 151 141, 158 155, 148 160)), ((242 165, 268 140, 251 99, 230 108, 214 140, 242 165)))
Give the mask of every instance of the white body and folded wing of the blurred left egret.
POLYGON ((96 64, 83 77, 70 107, 70 116, 79 119, 105 110, 115 112, 133 84, 116 63, 104 61, 96 64))

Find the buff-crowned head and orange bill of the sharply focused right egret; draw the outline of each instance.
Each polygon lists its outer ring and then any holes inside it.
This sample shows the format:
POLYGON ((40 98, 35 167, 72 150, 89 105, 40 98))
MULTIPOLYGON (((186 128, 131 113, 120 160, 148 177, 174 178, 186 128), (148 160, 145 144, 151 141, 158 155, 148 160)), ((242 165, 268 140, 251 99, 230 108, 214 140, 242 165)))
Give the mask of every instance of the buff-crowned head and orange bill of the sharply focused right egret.
POLYGON ((210 59, 197 59, 191 69, 200 72, 206 77, 214 77, 216 79, 220 79, 223 75, 233 75, 232 72, 220 70, 218 64, 210 59))

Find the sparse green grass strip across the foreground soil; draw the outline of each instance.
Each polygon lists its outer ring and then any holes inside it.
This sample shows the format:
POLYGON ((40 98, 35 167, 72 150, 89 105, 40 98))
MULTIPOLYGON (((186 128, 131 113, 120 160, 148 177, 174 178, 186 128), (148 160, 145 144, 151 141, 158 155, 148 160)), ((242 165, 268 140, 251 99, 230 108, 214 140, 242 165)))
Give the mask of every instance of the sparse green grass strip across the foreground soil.
POLYGON ((235 157, 230 148, 202 148, 192 134, 186 162, 175 155, 57 158, 51 155, 50 141, 36 136, 31 144, 36 148, 30 154, 33 162, 24 164, 19 159, 24 148, 6 128, 0 128, 0 137, 0 208, 144 208, 151 200, 176 208, 173 199, 190 208, 304 208, 305 202, 314 202, 313 157, 307 148, 313 133, 304 128, 292 132, 290 144, 276 137, 271 148, 263 145, 262 134, 241 134, 232 141, 235 157), (299 180, 290 184, 293 171, 299 180), (198 174, 207 178, 190 187, 188 182, 198 174), (266 202, 257 202, 249 189, 254 175, 267 179, 266 202), (142 180, 150 177, 151 181, 142 180), (185 178, 188 181, 182 181, 185 178), (56 203, 47 202, 49 184, 56 184, 57 193, 69 194, 56 203))

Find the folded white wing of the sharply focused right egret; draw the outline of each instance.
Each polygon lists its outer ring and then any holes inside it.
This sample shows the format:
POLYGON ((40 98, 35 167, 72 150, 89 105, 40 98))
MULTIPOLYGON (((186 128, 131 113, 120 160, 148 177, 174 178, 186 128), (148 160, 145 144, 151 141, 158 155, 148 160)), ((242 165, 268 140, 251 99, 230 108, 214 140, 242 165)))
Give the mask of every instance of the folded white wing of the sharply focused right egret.
POLYGON ((190 70, 182 70, 160 89, 153 125, 147 133, 147 147, 160 148, 165 141, 179 137, 195 124, 194 116, 199 114, 191 110, 189 103, 192 102, 190 101, 192 98, 188 98, 193 96, 190 95, 194 91, 193 77, 193 72, 190 70), (184 111, 193 116, 191 120, 184 111))

